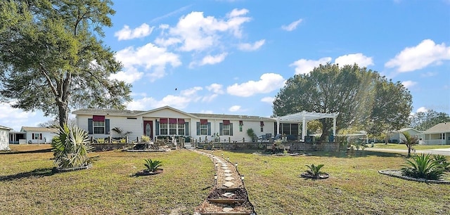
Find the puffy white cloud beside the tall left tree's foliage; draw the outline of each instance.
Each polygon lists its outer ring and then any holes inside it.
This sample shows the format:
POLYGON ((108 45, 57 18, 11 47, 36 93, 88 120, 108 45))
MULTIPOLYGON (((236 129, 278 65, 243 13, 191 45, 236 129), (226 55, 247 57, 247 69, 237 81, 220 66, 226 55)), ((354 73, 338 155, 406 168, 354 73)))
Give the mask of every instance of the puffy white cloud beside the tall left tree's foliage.
POLYGON ((165 76, 167 65, 171 65, 172 67, 181 65, 178 55, 168 52, 166 48, 160 48, 151 43, 139 48, 132 46, 124 48, 117 51, 115 57, 123 63, 126 71, 133 71, 131 67, 142 67, 143 72, 147 73, 151 82, 165 76))

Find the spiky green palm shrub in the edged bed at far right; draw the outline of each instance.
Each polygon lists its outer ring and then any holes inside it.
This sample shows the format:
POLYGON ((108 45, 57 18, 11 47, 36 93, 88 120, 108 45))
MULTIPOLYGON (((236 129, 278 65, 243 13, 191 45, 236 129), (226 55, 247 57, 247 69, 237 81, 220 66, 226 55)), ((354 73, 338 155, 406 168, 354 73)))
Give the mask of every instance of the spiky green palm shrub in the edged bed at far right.
POLYGON ((406 165, 401 171, 405 176, 427 180, 439 180, 445 174, 439 161, 432 159, 430 154, 413 155, 411 159, 406 159, 406 165))

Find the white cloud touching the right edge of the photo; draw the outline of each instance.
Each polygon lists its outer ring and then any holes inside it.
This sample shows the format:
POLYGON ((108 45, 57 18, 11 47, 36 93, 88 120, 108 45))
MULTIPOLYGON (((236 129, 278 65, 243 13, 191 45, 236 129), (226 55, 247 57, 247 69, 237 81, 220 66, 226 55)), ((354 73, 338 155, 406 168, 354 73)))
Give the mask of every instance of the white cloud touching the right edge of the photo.
POLYGON ((387 61, 385 67, 397 67, 397 72, 411 72, 428 65, 439 65, 442 60, 450 60, 450 47, 425 39, 417 46, 406 47, 395 58, 387 61))

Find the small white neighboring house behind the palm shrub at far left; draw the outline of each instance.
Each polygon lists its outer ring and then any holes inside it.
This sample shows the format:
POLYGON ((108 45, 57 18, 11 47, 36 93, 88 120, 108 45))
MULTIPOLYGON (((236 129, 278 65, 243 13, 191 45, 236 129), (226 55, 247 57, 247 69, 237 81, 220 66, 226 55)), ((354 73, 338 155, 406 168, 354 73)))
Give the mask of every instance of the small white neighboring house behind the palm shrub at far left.
MULTIPOLYGON (((58 129, 23 126, 20 133, 25 137, 25 143, 51 143, 53 136, 58 135, 58 129)), ((19 133, 18 133, 19 134, 19 133)))

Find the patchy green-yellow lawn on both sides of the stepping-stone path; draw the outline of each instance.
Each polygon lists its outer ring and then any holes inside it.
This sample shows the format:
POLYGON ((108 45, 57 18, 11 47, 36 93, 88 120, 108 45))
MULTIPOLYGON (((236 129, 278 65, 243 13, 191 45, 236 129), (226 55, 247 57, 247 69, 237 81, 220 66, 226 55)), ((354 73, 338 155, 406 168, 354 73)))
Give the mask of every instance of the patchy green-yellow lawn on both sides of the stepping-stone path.
MULTIPOLYGON (((378 174, 380 169, 401 168, 404 156, 394 153, 276 157, 223 152, 231 162, 238 162, 258 214, 450 213, 450 185, 378 174), (325 164, 321 170, 330 178, 300 178, 306 164, 325 164)), ((211 190, 214 166, 194 152, 94 155, 101 157, 92 169, 51 174, 51 152, 0 154, 2 214, 193 214, 211 190), (146 158, 161 160, 164 172, 130 177, 145 168, 146 158)))

